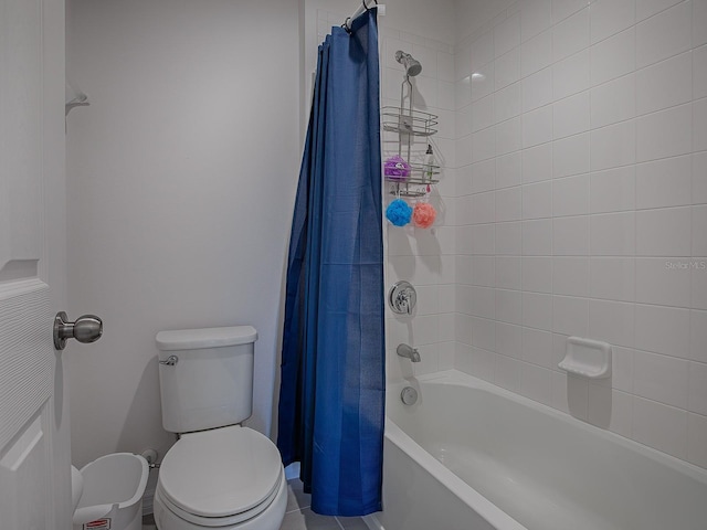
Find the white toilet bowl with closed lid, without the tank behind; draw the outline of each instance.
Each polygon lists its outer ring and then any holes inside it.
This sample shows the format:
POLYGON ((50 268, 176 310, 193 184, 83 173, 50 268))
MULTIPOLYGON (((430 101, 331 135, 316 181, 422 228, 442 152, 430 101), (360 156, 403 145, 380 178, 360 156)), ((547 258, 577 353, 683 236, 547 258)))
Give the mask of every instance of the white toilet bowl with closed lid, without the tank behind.
POLYGON ((187 434, 165 455, 154 504, 168 530, 277 530, 287 505, 277 448, 238 425, 187 434))

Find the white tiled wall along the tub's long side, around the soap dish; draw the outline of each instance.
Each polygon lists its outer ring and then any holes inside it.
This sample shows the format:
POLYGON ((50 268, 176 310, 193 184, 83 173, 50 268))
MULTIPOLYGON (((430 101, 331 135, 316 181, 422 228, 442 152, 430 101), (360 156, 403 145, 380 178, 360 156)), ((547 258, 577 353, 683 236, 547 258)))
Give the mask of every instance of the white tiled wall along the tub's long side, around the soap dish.
POLYGON ((458 3, 456 367, 707 467, 707 1, 458 3))

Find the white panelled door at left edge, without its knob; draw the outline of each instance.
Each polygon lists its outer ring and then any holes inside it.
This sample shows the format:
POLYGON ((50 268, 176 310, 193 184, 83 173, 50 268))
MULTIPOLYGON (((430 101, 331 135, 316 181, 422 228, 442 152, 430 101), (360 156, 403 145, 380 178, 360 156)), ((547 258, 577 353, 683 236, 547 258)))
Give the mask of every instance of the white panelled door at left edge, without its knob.
POLYGON ((71 529, 64 0, 0 0, 0 530, 71 529))

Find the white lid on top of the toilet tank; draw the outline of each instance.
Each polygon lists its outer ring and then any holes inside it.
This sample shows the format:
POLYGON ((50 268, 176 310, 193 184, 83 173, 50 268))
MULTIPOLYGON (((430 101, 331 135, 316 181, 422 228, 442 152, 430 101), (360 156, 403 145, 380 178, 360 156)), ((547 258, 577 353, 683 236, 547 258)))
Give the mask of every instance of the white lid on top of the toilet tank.
POLYGON ((175 329, 160 331, 155 337, 162 351, 223 348, 255 342, 257 331, 253 326, 228 326, 223 328, 175 329))

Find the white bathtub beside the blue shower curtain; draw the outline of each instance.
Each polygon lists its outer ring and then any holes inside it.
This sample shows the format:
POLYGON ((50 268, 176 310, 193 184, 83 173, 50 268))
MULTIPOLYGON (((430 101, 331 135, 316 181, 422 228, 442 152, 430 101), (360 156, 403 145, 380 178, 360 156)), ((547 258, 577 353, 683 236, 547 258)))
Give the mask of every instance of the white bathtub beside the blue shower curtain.
POLYGON ((457 371, 389 388, 384 530, 707 530, 707 470, 457 371))

